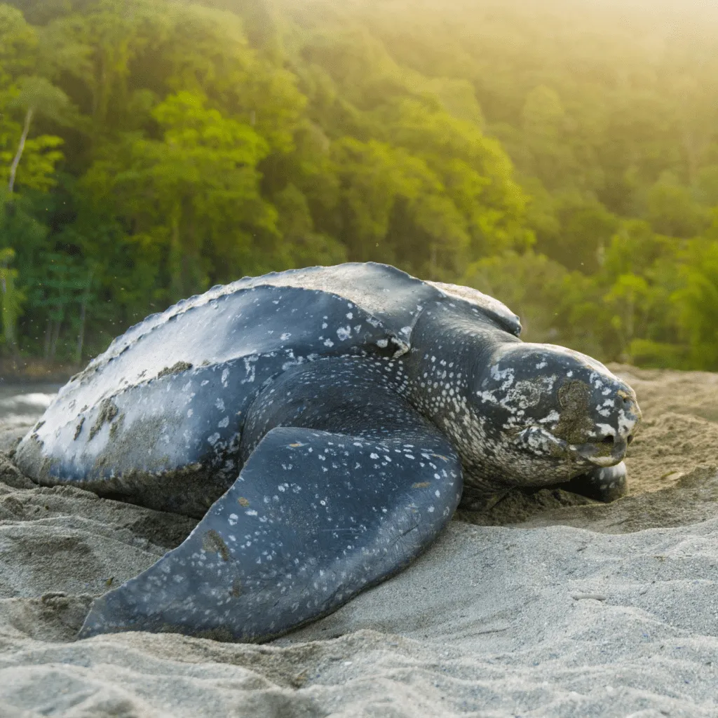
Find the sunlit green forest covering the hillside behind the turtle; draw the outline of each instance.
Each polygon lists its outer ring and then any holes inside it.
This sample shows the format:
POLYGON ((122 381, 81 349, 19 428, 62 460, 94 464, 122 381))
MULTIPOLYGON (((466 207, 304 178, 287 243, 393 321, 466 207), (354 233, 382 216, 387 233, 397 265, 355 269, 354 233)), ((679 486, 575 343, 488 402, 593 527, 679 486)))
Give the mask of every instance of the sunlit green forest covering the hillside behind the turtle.
POLYGON ((369 260, 502 299, 527 340, 718 370, 718 12, 0 4, 3 368, 369 260))

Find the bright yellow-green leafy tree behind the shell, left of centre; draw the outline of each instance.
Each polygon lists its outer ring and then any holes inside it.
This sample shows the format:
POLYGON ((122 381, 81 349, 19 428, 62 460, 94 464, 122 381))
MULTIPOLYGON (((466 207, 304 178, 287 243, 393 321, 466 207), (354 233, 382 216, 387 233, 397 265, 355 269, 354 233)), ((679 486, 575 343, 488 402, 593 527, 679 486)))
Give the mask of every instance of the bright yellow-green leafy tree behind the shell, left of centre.
POLYGON ((256 169, 266 141, 185 91, 152 116, 162 140, 129 136, 121 156, 95 162, 83 190, 119 211, 136 245, 162 247, 169 299, 206 289, 210 271, 256 270, 276 238, 276 210, 260 195, 256 169))

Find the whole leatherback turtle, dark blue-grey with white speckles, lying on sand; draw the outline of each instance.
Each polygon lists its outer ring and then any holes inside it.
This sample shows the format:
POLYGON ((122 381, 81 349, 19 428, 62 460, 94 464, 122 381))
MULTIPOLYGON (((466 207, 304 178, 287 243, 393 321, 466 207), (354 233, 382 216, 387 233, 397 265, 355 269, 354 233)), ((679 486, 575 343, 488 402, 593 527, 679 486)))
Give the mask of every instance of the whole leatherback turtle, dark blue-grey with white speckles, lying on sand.
POLYGON ((203 518, 95 600, 80 637, 267 640, 406 567, 462 492, 472 508, 516 487, 620 496, 635 393, 520 331, 495 299, 381 264, 241 279, 132 327, 17 464, 203 518))

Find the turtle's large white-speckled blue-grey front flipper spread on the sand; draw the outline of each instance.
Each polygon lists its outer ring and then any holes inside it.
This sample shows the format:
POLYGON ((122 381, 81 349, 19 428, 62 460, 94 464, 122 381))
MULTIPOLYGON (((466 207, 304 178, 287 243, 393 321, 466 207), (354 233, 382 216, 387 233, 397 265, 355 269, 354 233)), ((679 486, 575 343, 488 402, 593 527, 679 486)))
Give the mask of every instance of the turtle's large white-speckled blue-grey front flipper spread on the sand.
POLYGON ((181 546, 95 600, 80 638, 284 633, 406 567, 449 521, 461 480, 451 445, 418 415, 381 439, 271 429, 181 546))

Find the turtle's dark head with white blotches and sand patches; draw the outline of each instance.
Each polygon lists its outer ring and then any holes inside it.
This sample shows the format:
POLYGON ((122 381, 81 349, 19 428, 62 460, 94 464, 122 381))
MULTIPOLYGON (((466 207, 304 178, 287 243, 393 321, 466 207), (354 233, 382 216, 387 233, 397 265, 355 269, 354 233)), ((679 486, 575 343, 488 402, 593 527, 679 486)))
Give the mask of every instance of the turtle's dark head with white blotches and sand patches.
MULTIPOLYGON (((510 342, 477 364, 467 421, 477 466, 511 485, 548 485, 625 457, 640 421, 635 392, 604 365, 550 344, 510 342)), ((472 447, 462 447, 471 454, 472 447)))

